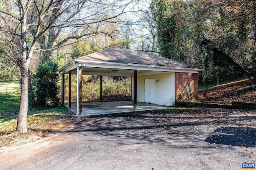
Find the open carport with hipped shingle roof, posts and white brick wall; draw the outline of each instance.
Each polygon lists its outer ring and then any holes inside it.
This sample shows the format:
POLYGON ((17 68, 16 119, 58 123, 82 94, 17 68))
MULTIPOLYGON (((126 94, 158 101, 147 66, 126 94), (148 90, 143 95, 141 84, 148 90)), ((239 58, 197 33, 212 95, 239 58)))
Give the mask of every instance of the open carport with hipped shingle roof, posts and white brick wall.
MULTIPOLYGON (((74 59, 60 69, 62 104, 64 104, 65 97, 64 74, 69 74, 68 107, 74 107, 70 97, 71 74, 76 74, 77 116, 82 115, 82 75, 100 76, 100 102, 102 102, 102 76, 129 76, 132 77, 133 111, 137 110, 137 99, 142 103, 174 106, 177 94, 180 95, 182 92, 181 88, 179 90, 179 86, 176 87, 176 77, 179 79, 192 78, 192 87, 196 85, 195 87, 198 88, 198 71, 200 70, 202 69, 140 50, 108 48, 74 59)), ((197 93, 198 89, 193 95, 196 96, 197 93)))

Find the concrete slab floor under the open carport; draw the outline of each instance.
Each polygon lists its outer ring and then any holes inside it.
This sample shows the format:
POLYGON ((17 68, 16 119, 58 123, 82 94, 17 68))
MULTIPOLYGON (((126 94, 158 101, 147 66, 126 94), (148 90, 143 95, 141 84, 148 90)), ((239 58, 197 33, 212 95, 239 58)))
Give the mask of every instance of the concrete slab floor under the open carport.
MULTIPOLYGON (((68 107, 68 104, 64 104, 68 107)), ((141 103, 137 102, 137 111, 144 110, 155 110, 155 109, 167 109, 168 106, 141 103)), ((76 103, 71 104, 69 108, 73 113, 77 113, 76 103)), ((91 116, 91 115, 102 115, 110 113, 121 113, 121 112, 132 112, 133 101, 120 101, 120 102, 93 102, 93 103, 82 103, 82 115, 79 117, 91 116)))

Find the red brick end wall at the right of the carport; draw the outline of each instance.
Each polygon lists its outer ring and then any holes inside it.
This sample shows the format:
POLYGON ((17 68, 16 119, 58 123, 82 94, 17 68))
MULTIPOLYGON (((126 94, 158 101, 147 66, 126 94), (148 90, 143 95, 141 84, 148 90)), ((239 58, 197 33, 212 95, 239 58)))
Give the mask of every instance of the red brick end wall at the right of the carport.
POLYGON ((198 99, 198 73, 175 72, 175 101, 198 99))

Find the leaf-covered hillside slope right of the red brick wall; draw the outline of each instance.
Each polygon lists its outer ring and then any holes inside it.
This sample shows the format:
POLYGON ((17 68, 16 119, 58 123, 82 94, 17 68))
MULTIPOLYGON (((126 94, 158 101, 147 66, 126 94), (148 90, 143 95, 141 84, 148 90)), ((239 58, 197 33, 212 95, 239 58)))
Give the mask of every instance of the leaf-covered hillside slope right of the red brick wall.
POLYGON ((198 100, 219 104, 230 104, 232 101, 256 103, 256 90, 251 88, 248 79, 240 80, 203 90, 199 92, 198 100))

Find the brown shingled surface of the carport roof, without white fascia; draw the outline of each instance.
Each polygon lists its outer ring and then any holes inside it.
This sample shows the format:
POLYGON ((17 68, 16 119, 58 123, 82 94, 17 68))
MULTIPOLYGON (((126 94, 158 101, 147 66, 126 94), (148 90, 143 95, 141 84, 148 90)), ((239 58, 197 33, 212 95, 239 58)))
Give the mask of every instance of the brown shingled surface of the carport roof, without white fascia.
POLYGON ((168 66, 172 68, 196 68, 189 64, 146 53, 141 50, 121 49, 116 47, 104 49, 102 51, 85 55, 77 59, 85 61, 104 61, 123 64, 168 66))

